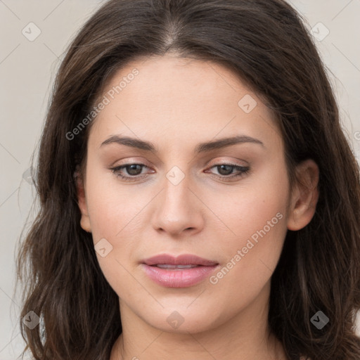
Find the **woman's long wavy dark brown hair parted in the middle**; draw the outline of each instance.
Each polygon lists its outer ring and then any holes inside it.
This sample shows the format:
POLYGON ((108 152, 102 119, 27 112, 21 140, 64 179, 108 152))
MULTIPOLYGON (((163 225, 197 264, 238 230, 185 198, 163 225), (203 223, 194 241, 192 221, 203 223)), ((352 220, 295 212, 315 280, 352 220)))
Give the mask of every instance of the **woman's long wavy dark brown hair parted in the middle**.
POLYGON ((171 51, 231 69, 274 110, 290 184, 302 160, 319 166, 314 217, 288 230, 271 278, 269 326, 290 360, 360 359, 359 165, 304 23, 283 0, 111 0, 85 23, 58 70, 34 166, 39 212, 17 259, 23 354, 108 360, 122 333, 119 299, 80 227, 73 177, 93 122, 74 139, 67 134, 115 71, 171 51), (32 330, 21 321, 29 311, 40 317, 32 330), (329 319, 321 330, 311 323, 317 311, 329 319))

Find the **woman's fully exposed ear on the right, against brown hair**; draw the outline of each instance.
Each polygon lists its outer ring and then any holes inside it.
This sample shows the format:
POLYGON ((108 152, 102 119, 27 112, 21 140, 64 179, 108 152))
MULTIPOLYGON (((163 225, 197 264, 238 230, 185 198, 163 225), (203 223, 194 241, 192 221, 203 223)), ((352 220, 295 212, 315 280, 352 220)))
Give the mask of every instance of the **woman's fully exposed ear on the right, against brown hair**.
POLYGON ((308 159, 297 165, 297 184, 290 198, 288 229, 300 230, 307 226, 315 214, 319 199, 319 167, 308 159))

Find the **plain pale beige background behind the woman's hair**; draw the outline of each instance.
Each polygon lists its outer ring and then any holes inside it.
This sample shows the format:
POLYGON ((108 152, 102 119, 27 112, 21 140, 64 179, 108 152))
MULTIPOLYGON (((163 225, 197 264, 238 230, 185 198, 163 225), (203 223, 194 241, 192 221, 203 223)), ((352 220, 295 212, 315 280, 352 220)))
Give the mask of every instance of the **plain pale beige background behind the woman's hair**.
MULTIPOLYGON (((0 360, 17 359, 23 348, 20 302, 13 288, 15 245, 34 198, 28 177, 30 157, 39 141, 65 46, 101 3, 0 0, 0 360), (30 41, 37 32, 41 33, 30 41)), ((316 44, 331 71, 343 128, 360 160, 360 1, 292 0, 291 4, 314 29, 316 44)))

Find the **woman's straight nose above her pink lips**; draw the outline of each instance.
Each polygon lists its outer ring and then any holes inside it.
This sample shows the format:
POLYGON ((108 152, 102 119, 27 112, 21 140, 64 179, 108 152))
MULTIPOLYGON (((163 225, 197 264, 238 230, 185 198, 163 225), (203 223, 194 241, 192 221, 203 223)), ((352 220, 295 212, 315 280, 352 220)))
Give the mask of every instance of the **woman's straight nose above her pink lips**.
POLYGON ((179 184, 169 179, 165 177, 162 191, 156 197, 153 228, 170 236, 201 231, 205 222, 205 205, 200 200, 196 186, 192 186, 187 174, 179 184))

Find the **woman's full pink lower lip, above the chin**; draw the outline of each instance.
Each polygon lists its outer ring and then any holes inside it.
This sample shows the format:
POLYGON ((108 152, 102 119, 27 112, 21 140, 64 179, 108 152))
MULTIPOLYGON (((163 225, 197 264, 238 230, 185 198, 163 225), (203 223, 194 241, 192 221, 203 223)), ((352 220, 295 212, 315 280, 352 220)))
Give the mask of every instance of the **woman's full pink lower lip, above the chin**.
POLYGON ((190 269, 161 269, 146 264, 142 266, 148 277, 159 285, 167 288, 187 288, 210 276, 219 265, 197 266, 190 269))

